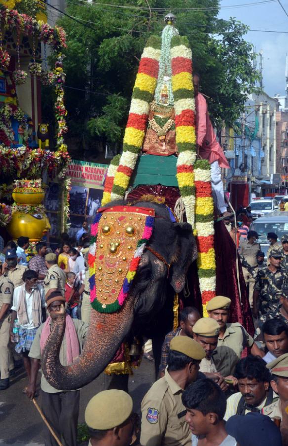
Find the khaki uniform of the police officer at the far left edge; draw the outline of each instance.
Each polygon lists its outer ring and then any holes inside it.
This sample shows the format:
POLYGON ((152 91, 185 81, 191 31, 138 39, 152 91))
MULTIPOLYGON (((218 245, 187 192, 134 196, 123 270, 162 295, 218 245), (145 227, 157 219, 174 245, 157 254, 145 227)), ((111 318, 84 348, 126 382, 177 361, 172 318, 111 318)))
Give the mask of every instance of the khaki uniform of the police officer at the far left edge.
MULTIPOLYGON (((6 276, 0 277, 0 310, 4 304, 9 304, 11 307, 13 302, 14 286, 6 276)), ((10 308, 9 308, 10 310, 10 308)), ((10 311, 0 320, 0 370, 1 379, 9 378, 9 366, 10 366, 10 311)))

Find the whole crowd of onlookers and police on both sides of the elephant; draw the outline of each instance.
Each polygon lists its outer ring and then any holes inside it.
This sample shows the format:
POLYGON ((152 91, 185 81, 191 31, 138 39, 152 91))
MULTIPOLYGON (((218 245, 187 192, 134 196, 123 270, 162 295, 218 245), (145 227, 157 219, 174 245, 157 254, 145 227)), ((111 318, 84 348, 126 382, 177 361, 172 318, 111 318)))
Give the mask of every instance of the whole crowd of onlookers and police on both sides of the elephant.
MULTIPOLYGON (((127 393, 100 392, 85 412, 90 445, 288 445, 288 234, 280 242, 277 234, 267 234, 266 265, 258 234, 246 230, 241 213, 237 219, 255 336, 229 322, 228 297, 211 299, 205 318, 184 307, 179 327, 165 336, 159 378, 142 400, 141 421, 127 393)), ((230 218, 224 223, 231 225, 230 218)), ((23 392, 33 399, 54 319, 65 314, 61 364, 71 364, 85 343, 89 227, 83 223, 77 240, 62 234, 55 252, 41 241, 28 258, 28 245, 20 237, 0 253, 0 390, 9 387, 21 359, 28 377, 23 392)), ((80 390, 55 389, 43 374, 40 387, 49 424, 63 445, 76 446, 80 390)), ((57 444, 49 431, 46 444, 57 444)))

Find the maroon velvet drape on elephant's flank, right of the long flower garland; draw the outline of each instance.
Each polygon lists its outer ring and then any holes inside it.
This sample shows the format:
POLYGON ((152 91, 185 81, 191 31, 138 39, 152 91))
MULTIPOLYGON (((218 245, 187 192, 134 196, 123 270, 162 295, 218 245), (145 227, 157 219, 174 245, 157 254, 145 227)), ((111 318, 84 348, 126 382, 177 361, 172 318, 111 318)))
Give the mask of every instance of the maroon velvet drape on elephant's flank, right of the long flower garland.
POLYGON ((229 322, 239 322, 250 335, 254 335, 252 312, 247 295, 245 280, 242 274, 239 254, 237 252, 241 302, 237 286, 236 250, 222 221, 216 222, 215 227, 215 255, 216 255, 216 295, 231 299, 229 322), (231 268, 231 265, 233 266, 231 268))

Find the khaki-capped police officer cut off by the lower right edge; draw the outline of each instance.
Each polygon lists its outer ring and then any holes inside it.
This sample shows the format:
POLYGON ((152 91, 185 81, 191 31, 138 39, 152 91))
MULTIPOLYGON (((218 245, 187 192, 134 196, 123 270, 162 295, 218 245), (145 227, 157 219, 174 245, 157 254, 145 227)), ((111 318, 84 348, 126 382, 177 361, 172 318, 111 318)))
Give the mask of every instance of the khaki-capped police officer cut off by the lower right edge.
POLYGON ((288 406, 288 353, 269 362, 266 367, 271 370, 271 387, 279 395, 279 399, 264 407, 262 413, 270 418, 280 418, 283 444, 286 445, 284 440, 286 439, 287 442, 288 439, 288 414, 286 412, 288 406))

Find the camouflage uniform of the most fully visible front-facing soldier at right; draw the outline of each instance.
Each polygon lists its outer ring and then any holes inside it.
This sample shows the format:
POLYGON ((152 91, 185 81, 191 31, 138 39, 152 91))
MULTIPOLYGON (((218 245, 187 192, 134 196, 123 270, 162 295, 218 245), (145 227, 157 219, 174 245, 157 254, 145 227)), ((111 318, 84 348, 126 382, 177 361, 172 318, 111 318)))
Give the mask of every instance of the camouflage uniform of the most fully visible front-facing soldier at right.
POLYGON ((272 273, 268 267, 258 271, 254 289, 259 291, 260 316, 277 309, 279 291, 286 281, 288 281, 288 271, 282 267, 277 268, 275 273, 272 273))

